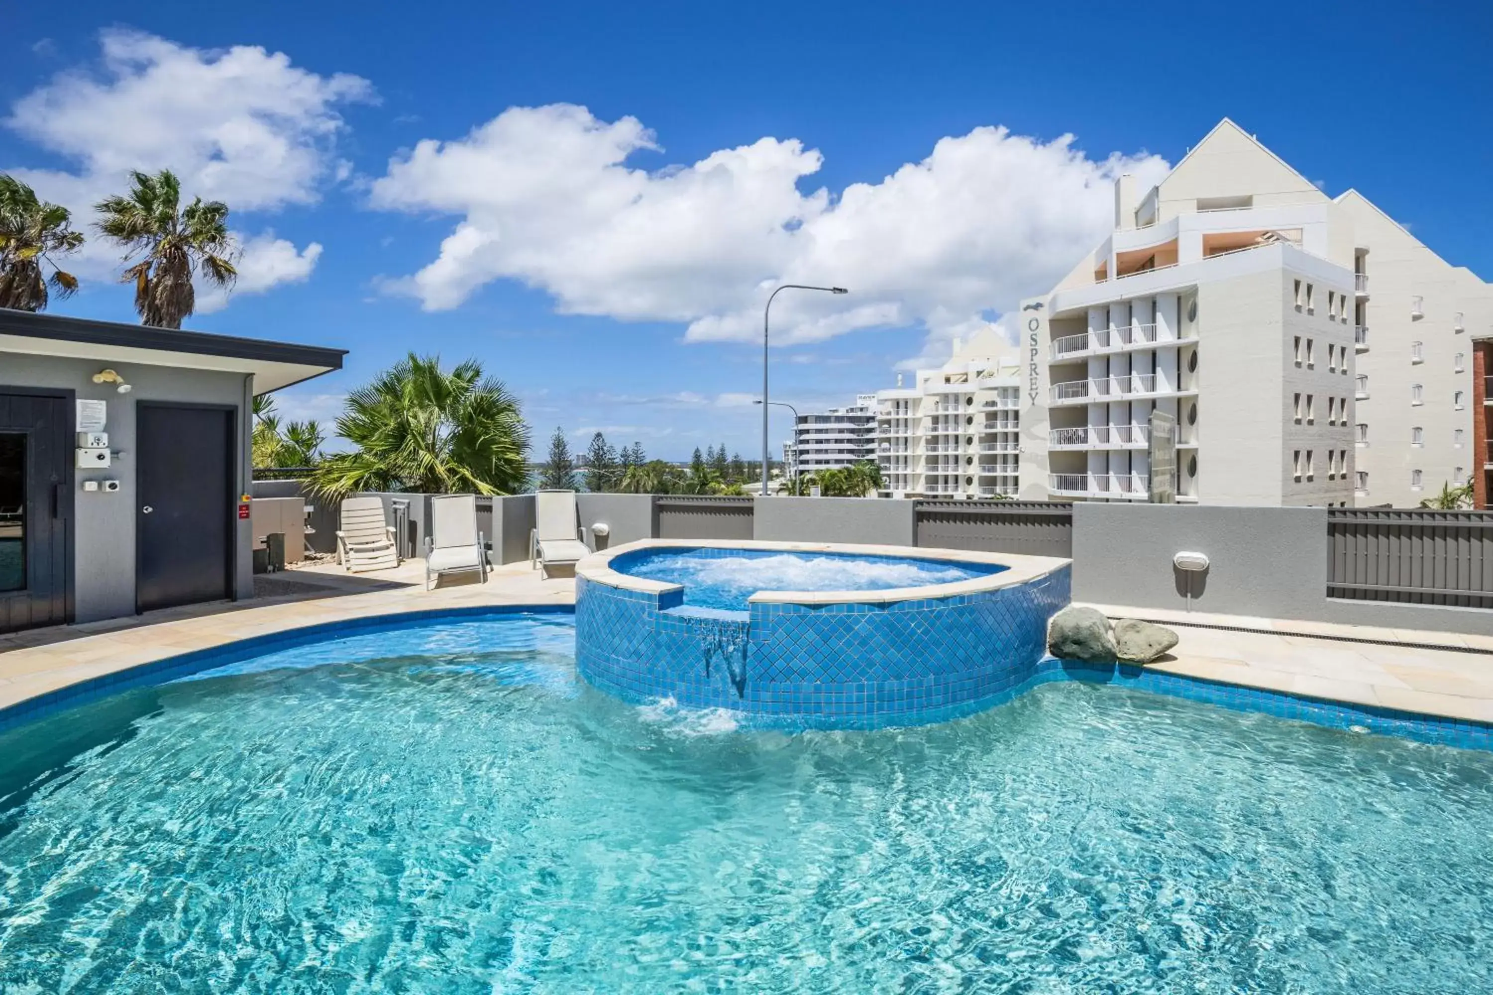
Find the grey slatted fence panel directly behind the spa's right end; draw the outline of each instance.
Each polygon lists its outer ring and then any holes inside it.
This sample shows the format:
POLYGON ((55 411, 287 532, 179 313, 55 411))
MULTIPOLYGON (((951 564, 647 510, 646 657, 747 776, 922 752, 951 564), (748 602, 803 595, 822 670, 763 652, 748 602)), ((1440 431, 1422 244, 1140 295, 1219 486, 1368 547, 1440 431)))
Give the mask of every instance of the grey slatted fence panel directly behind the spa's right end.
POLYGON ((1066 501, 917 501, 912 515, 918 546, 1073 555, 1073 506, 1066 501))

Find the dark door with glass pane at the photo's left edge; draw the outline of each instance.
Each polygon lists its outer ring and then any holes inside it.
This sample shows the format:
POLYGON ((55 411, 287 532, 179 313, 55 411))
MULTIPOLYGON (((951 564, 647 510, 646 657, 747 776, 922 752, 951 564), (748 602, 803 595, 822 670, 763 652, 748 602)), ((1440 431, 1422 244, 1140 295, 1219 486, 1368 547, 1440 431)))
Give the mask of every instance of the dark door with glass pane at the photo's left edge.
POLYGON ((0 386, 0 633, 72 616, 70 409, 0 386))

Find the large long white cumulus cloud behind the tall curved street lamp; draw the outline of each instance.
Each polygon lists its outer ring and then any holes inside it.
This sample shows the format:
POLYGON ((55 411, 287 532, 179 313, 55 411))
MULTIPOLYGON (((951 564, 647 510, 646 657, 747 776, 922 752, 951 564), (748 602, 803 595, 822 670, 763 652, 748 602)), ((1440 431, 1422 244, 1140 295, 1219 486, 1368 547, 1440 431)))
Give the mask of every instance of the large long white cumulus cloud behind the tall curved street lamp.
POLYGON ((847 297, 781 295, 775 339, 920 325, 936 352, 1093 248, 1109 228, 1115 176, 1144 186, 1166 170, 1154 155, 1090 158, 1072 136, 999 127, 941 139, 921 161, 838 194, 800 189, 823 158, 796 139, 636 164, 658 151, 638 119, 606 122, 572 104, 511 107, 463 139, 420 142, 390 161, 372 203, 458 221, 436 260, 387 288, 442 310, 515 279, 561 312, 748 342, 773 285, 844 285, 847 297))

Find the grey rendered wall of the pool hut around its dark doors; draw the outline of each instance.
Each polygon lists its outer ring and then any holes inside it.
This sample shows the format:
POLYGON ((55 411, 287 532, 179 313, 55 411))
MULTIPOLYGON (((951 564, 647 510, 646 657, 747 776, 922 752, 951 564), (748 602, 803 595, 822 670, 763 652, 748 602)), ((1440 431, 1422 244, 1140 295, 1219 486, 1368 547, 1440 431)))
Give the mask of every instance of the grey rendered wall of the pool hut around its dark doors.
MULTIPOLYGON (((3 354, 0 385, 54 386, 78 392, 78 400, 109 403, 109 448, 122 455, 107 470, 78 470, 75 486, 76 522, 73 533, 73 589, 78 622, 134 615, 134 510, 139 504, 134 482, 134 406, 137 401, 184 401, 193 404, 231 404, 237 409, 239 473, 236 492, 249 488, 248 437, 243 418, 249 397, 249 377, 239 373, 179 370, 173 367, 112 364, 133 388, 118 394, 109 383, 94 383, 93 374, 105 364, 94 360, 30 357, 3 354), (84 480, 119 480, 119 491, 85 494, 84 480)), ((224 509, 231 513, 231 509, 224 509)), ((237 565, 234 592, 239 598, 254 594, 252 525, 237 522, 237 565)))

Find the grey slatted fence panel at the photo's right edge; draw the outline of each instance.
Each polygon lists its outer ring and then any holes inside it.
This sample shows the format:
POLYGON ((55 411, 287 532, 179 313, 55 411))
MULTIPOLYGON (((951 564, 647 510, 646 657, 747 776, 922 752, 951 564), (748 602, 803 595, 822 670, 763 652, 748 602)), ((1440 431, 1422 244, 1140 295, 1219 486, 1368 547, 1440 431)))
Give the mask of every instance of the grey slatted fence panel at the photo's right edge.
POLYGON ((1327 597, 1493 607, 1493 513, 1329 509, 1327 597))

